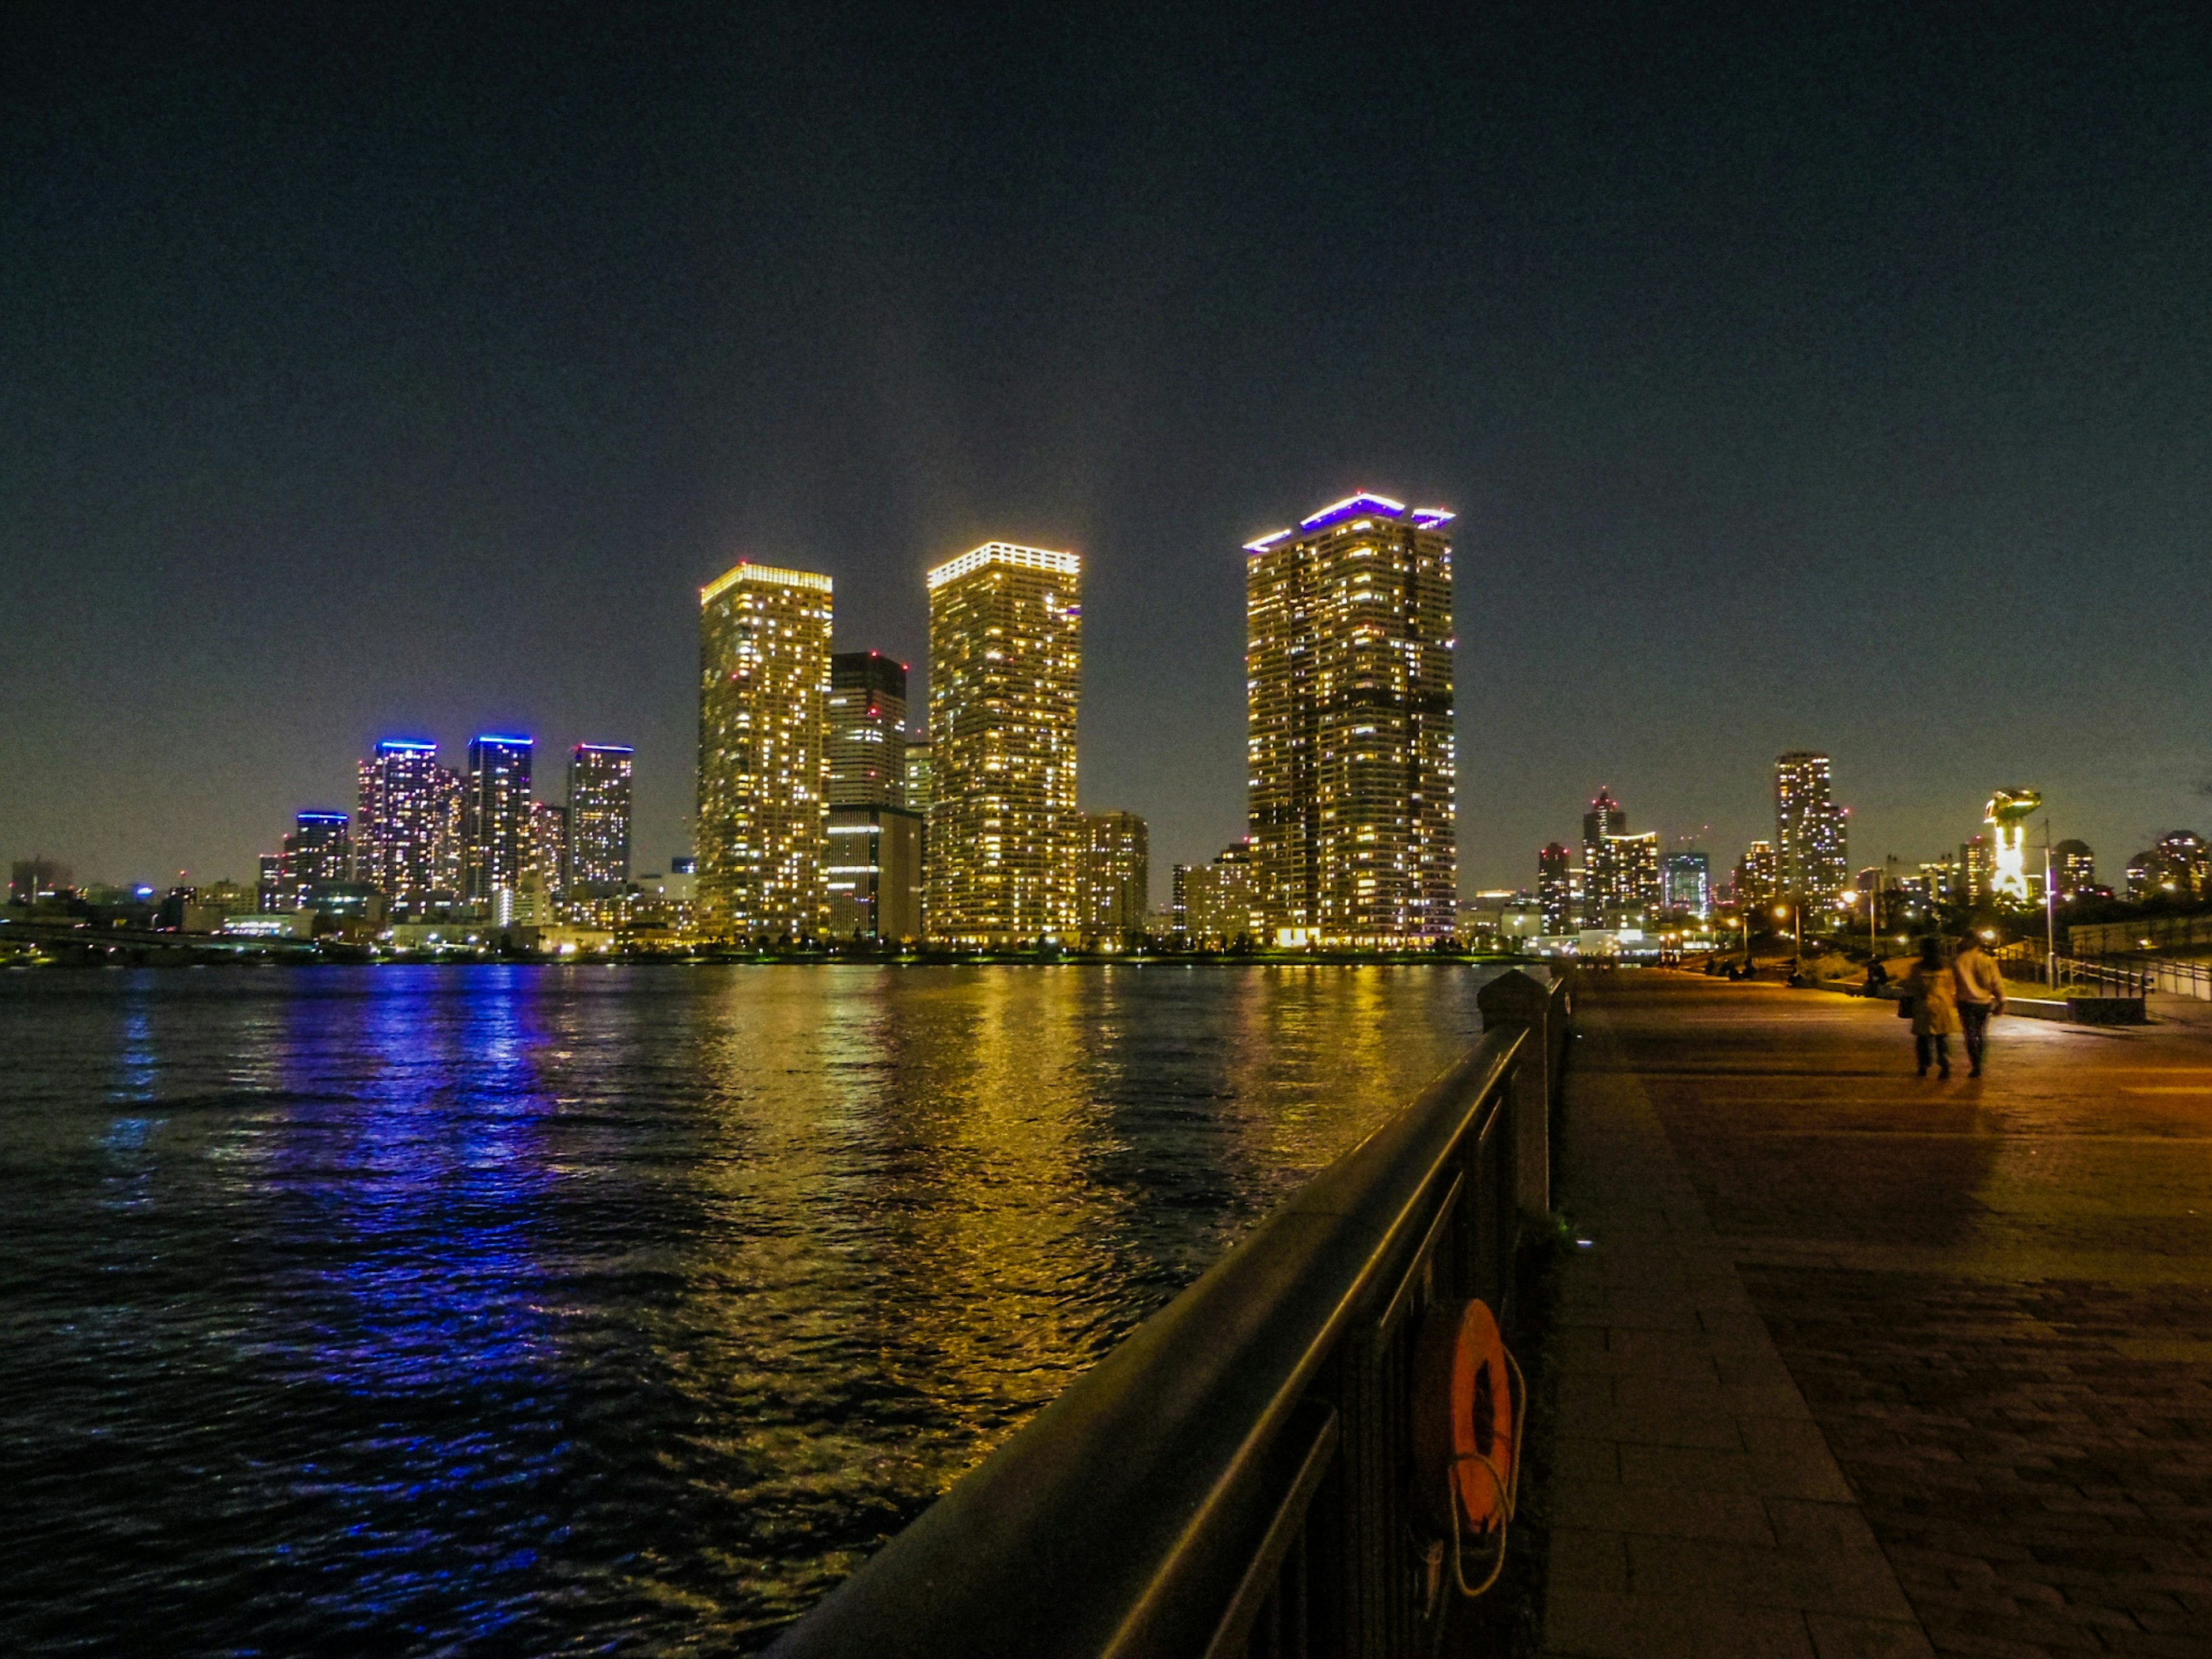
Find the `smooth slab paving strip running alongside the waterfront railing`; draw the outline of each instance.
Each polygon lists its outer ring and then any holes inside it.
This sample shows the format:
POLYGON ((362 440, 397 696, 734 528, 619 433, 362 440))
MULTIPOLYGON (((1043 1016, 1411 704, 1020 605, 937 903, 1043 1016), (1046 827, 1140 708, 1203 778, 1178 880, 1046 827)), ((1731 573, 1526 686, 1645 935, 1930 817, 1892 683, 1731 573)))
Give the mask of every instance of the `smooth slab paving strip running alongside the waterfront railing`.
POLYGON ((1927 1655, 1650 1104, 1595 1077, 1575 1106, 1562 1181, 1593 1243, 1544 1356, 1546 1652, 1927 1655))

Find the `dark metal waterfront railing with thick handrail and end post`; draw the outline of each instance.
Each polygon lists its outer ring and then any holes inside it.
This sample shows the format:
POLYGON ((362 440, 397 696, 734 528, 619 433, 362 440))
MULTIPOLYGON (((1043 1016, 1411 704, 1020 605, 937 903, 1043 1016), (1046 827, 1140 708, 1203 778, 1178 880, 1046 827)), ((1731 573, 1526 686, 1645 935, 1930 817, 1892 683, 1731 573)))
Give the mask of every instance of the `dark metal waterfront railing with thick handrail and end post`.
POLYGON ((1511 1312, 1548 1210, 1571 982, 1506 973, 1484 1035, 969 1471, 783 1659, 1433 1650, 1411 1365, 1431 1303, 1511 1312))

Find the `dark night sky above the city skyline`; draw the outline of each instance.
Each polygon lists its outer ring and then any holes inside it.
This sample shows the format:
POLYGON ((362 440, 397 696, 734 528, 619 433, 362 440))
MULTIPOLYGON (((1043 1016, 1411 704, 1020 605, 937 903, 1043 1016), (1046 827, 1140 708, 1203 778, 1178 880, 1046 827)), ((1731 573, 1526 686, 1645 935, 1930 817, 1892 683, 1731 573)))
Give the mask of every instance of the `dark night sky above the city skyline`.
POLYGON ((1460 513, 1469 889, 1599 783, 1732 863, 1801 745, 1854 863, 2212 827, 2201 7, 177 11, 0 24, 0 856, 250 880, 520 728, 659 869, 701 582, 920 670, 1004 538, 1164 889, 1239 544, 1354 489, 1460 513))

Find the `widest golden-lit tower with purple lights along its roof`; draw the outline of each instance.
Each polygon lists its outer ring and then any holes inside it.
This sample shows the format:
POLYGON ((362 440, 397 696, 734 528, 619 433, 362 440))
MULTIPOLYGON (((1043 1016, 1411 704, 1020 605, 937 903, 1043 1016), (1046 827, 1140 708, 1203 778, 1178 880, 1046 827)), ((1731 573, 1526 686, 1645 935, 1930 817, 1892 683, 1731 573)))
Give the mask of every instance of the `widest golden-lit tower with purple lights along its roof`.
POLYGON ((1458 925, 1449 520, 1349 495, 1245 544, 1248 816, 1281 942, 1458 925))

